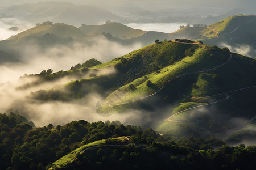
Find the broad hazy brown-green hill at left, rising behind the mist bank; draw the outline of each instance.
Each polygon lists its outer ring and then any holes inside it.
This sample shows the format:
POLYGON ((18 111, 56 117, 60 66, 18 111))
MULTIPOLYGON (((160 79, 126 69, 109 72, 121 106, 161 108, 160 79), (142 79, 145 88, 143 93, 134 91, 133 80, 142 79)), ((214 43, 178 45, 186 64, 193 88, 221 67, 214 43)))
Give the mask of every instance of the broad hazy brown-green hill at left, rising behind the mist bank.
POLYGON ((90 46, 101 39, 106 39, 109 42, 117 42, 120 45, 129 45, 129 42, 118 37, 113 37, 109 33, 93 32, 86 34, 72 25, 64 23, 53 24, 53 22, 49 21, 43 22, 17 35, 11 36, 9 39, 0 41, 0 50, 2 52, 0 61, 23 62, 22 50, 30 45, 36 46, 37 49, 43 52, 47 48, 57 48, 58 46, 65 46, 67 48, 72 48, 74 44, 90 46))

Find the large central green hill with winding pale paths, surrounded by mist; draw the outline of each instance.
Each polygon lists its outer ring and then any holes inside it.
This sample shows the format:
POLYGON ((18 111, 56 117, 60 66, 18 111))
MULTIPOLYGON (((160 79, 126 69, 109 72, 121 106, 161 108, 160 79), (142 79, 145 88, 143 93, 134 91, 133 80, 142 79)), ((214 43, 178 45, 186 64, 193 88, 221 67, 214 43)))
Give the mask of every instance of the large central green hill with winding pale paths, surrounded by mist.
MULTIPOLYGON (((206 137, 224 137, 230 129, 245 126, 234 120, 255 116, 255 63, 228 48, 191 40, 162 41, 90 67, 88 77, 33 92, 30 97, 90 100, 93 92, 104 97, 101 105, 96 104, 102 117, 142 110, 152 119, 143 122, 142 118, 138 124, 150 124, 163 134, 182 136, 180 128, 189 127, 197 133, 201 129, 206 137), (110 68, 117 72, 106 75, 104 70, 110 68), (168 107, 173 111, 163 109, 168 107)), ((82 74, 82 69, 74 73, 82 74)))

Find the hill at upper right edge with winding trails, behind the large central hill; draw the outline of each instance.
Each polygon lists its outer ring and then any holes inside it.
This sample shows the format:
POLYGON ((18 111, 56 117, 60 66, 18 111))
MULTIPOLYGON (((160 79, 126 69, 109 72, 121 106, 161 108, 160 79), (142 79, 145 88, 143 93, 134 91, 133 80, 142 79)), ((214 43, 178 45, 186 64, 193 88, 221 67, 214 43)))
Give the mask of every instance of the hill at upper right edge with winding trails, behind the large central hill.
POLYGON ((236 51, 236 48, 247 45, 252 49, 246 54, 254 58, 256 56, 255 19, 255 15, 230 16, 208 27, 197 26, 181 28, 171 33, 171 38, 201 40, 208 45, 230 45, 234 51, 236 51))

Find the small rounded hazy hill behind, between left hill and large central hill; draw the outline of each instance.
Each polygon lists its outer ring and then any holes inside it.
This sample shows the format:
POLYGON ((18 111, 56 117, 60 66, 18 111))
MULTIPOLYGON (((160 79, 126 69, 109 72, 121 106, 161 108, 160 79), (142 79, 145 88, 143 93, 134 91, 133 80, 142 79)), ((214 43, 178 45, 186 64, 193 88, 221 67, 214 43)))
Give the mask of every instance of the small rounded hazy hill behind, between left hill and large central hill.
POLYGON ((121 23, 110 22, 102 25, 82 25, 79 27, 80 31, 84 33, 91 32, 105 32, 110 33, 114 37, 120 39, 130 39, 132 37, 141 36, 147 31, 142 31, 140 29, 133 29, 123 25, 121 23))

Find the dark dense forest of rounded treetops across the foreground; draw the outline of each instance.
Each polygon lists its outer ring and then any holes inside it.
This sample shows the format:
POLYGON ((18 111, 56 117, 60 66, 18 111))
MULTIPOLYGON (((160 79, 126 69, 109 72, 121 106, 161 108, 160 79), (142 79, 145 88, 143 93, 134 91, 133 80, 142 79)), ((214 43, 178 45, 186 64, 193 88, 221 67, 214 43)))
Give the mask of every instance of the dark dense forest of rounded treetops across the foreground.
POLYGON ((106 139, 76 155, 65 169, 254 169, 256 146, 232 147, 222 139, 188 138, 156 133, 119 121, 72 121, 33 128, 18 114, 0 114, 0 162, 3 169, 49 169, 76 148, 106 139), (113 138, 126 136, 120 145, 113 138), (113 145, 115 143, 115 145, 113 145))

